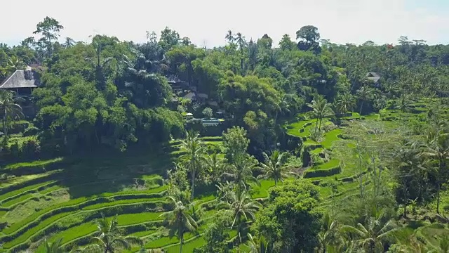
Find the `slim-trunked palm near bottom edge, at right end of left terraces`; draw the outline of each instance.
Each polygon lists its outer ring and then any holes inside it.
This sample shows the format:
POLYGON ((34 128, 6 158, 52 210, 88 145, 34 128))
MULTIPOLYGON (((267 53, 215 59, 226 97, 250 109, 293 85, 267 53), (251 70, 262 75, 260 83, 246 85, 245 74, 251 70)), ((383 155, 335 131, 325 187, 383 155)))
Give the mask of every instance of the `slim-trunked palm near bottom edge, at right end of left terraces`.
POLYGON ((194 202, 185 205, 181 200, 175 199, 173 196, 168 197, 174 208, 169 212, 161 214, 170 225, 170 233, 177 233, 180 240, 180 253, 182 253, 182 244, 184 243, 184 233, 187 231, 196 231, 198 225, 191 216, 189 210, 194 207, 194 202))

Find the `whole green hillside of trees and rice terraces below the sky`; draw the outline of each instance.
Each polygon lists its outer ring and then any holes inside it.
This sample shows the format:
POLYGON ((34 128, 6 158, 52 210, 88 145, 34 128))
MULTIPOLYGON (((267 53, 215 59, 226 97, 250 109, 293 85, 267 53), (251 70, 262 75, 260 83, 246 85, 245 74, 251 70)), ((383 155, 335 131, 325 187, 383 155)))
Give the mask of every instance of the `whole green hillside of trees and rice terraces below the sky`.
POLYGON ((63 29, 0 44, 0 250, 449 251, 449 45, 63 29))

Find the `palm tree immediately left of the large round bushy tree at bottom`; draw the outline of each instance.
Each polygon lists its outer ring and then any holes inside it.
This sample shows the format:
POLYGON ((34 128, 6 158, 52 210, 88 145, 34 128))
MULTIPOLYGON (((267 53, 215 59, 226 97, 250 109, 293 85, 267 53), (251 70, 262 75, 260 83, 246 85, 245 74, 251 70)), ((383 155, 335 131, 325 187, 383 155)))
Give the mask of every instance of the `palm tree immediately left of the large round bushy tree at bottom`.
POLYGON ((241 221, 245 219, 248 221, 255 218, 255 213, 262 208, 259 202, 253 200, 246 190, 241 193, 232 191, 227 195, 227 201, 220 203, 220 207, 232 212, 234 220, 232 221, 231 229, 237 226, 239 233, 239 242, 241 242, 241 221))

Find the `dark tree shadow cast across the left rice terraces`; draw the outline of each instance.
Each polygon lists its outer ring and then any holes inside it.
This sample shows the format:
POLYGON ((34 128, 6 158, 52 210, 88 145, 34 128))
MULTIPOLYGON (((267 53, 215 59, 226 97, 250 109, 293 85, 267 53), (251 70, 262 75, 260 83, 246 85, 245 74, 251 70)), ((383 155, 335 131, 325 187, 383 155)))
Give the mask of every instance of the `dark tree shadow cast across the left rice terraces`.
POLYGON ((133 149, 120 153, 103 149, 93 154, 69 157, 73 160, 60 174, 60 185, 68 189, 72 199, 134 188, 150 175, 166 176, 173 157, 165 153, 149 153, 133 149))

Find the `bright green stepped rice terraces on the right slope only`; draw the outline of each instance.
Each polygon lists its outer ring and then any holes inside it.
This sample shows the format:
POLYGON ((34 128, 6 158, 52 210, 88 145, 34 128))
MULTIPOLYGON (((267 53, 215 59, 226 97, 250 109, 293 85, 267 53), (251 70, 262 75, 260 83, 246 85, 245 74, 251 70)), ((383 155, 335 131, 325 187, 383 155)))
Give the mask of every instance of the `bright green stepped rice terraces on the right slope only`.
MULTIPOLYGON (((410 119, 417 117, 424 117, 427 112, 424 103, 414 103, 409 112, 401 112, 399 110, 381 110, 380 114, 361 116, 357 112, 351 112, 351 115, 340 117, 342 122, 349 120, 364 120, 364 121, 379 121, 382 120, 388 127, 395 128, 399 125, 400 119, 410 119)), ((309 166, 304 171, 304 179, 314 182, 320 186, 321 195, 326 199, 330 197, 331 190, 330 181, 337 182, 337 196, 349 195, 356 193, 358 189, 358 182, 354 181, 356 175, 360 172, 356 169, 355 164, 344 164, 337 159, 333 152, 335 143, 342 140, 344 126, 337 127, 327 131, 316 142, 310 138, 311 131, 314 131, 316 126, 316 119, 307 119, 305 114, 298 115, 301 120, 291 122, 287 125, 288 134, 300 139, 302 148, 305 150, 311 160, 309 166)), ((323 126, 331 124, 330 118, 323 119, 323 126)), ((351 148, 351 147, 349 147, 351 148)), ((369 181, 364 183, 368 184, 369 181)))

